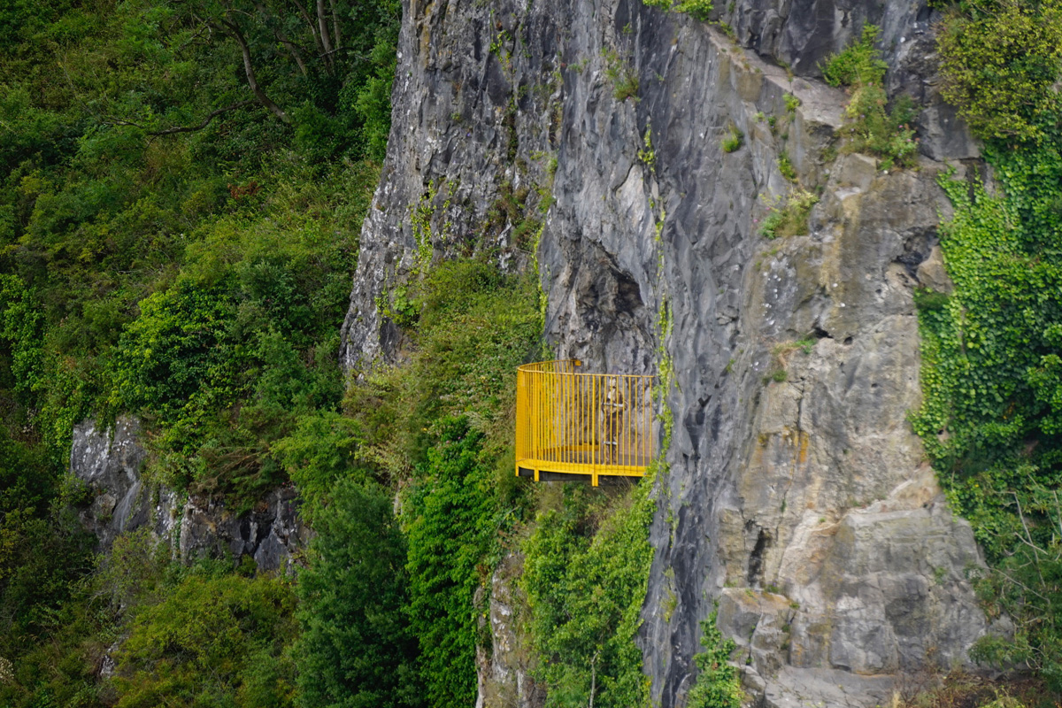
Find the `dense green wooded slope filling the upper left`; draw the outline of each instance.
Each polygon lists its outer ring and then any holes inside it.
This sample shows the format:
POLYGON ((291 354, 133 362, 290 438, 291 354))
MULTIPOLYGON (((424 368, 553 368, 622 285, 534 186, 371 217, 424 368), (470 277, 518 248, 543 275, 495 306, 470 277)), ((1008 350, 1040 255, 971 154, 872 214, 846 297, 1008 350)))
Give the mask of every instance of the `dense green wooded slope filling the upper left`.
POLYGON ((254 496, 294 412, 276 398, 339 400, 324 357, 377 174, 355 160, 389 131, 399 7, 329 5, 336 51, 312 56, 292 7, 240 10, 61 3, 0 47, 0 385, 53 454, 85 415, 140 409, 167 478, 254 496), (246 87, 240 36, 290 127, 246 87))

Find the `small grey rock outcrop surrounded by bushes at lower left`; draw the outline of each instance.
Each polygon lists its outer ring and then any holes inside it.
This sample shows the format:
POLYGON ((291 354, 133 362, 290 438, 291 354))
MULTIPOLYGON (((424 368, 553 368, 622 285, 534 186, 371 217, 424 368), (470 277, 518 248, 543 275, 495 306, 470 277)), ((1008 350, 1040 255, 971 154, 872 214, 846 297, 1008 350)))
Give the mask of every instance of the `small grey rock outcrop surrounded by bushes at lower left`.
POLYGON ((101 550, 119 534, 148 526, 183 560, 246 555, 268 571, 289 569, 306 547, 309 530, 298 518, 294 489, 275 489, 251 512, 236 515, 221 502, 178 496, 143 480, 145 456, 136 418, 121 417, 113 430, 99 429, 92 420, 74 426, 70 469, 93 497, 81 520, 100 539, 101 550))

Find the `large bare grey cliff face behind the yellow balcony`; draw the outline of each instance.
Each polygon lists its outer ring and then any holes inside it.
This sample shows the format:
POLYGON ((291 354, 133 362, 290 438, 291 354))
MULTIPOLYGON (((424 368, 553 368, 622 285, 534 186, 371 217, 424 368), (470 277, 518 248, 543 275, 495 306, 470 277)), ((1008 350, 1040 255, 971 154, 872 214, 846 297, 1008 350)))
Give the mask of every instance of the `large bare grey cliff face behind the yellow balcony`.
POLYGON ((948 287, 935 177, 976 169, 977 146, 935 93, 922 2, 739 0, 715 17, 736 40, 638 0, 409 0, 343 361, 397 357, 392 293, 481 235, 525 266, 518 222, 550 194, 537 263, 558 356, 673 365, 643 625, 654 703, 685 705, 718 601, 759 705, 884 704, 896 676, 963 663, 989 631, 963 574, 973 535, 906 422, 912 292, 948 287), (818 65, 864 22, 883 28, 890 90, 924 106, 918 170, 839 150, 846 99, 818 65), (760 237, 798 188, 820 195, 808 234, 760 237), (521 192, 524 213, 498 220, 521 192))

